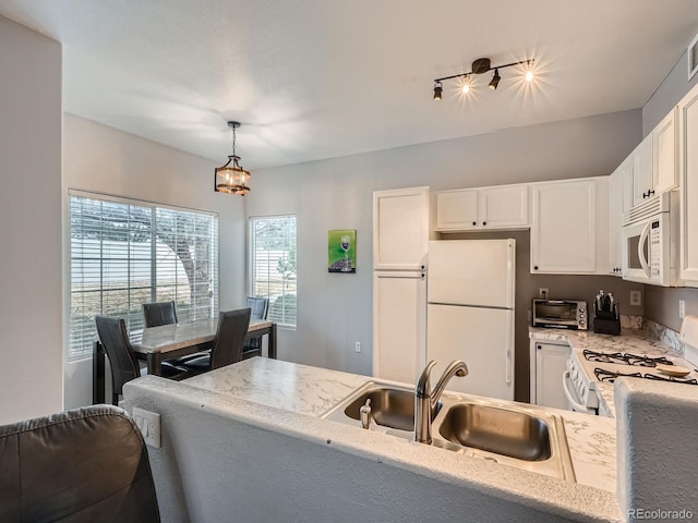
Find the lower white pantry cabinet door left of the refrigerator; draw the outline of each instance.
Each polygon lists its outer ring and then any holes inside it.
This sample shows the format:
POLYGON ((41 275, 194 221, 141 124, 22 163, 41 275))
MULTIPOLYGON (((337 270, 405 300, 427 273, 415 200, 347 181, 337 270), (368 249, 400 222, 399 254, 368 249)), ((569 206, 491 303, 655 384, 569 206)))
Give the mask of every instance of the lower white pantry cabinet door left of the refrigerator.
POLYGON ((373 278, 373 375, 414 384, 426 350, 424 273, 376 271, 373 278))

